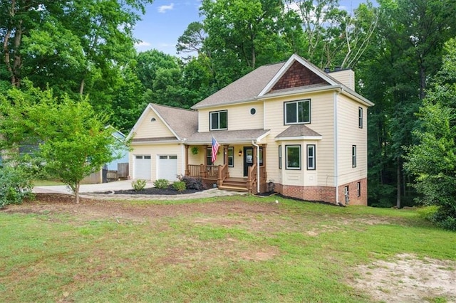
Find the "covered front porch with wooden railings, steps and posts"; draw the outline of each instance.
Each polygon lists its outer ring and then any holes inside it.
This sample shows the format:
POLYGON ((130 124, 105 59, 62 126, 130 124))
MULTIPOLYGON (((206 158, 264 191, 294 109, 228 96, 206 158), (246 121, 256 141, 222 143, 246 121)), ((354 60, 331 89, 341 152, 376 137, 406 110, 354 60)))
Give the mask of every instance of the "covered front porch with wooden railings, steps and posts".
POLYGON ((199 136, 204 136, 204 139, 194 138, 185 144, 185 175, 200 178, 209 187, 216 184, 218 188, 229 191, 253 194, 268 191, 267 144, 260 142, 269 131, 264 129, 253 131, 254 136, 252 136, 252 130, 214 133, 213 137, 220 144, 217 160, 214 163, 212 163, 211 154, 212 133, 199 133, 199 136), (246 132, 250 132, 251 135, 247 136, 246 132), (203 140, 204 142, 201 142, 203 140))

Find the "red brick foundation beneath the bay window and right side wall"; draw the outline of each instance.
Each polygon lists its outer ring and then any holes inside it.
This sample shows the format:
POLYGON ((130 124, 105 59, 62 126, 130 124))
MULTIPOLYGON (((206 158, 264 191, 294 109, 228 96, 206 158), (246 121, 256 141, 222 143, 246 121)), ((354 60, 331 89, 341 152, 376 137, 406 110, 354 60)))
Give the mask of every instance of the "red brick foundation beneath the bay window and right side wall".
MULTIPOLYGON (((349 184, 343 184, 338 188, 339 202, 345 204, 344 188, 348 186, 348 205, 367 206, 367 179, 353 181, 349 184), (361 184, 361 196, 358 197, 356 191, 357 183, 361 184)), ((299 198, 306 201, 323 201, 328 203, 336 203, 336 188, 333 186, 290 186, 283 184, 275 184, 275 191, 284 196, 291 198, 299 198)))

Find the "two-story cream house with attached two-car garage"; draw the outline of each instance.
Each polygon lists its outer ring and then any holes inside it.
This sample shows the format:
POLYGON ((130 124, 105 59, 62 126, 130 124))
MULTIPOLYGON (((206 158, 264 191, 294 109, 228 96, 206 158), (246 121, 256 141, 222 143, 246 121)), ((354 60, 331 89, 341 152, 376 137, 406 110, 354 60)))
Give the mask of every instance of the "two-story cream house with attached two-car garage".
POLYGON ((150 104, 133 127, 130 177, 201 177, 219 188, 367 204, 367 108, 353 70, 320 70, 292 55, 192 110, 150 104), (220 144, 212 163, 212 138, 220 144))

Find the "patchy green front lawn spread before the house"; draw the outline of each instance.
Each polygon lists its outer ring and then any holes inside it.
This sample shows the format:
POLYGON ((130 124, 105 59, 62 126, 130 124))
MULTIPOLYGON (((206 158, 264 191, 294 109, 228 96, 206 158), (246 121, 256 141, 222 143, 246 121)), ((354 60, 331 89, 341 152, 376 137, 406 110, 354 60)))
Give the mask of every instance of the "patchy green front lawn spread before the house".
MULTIPOLYGON (((147 204, 164 202, 132 207, 147 204)), ((356 265, 404 252, 456 260, 454 243, 456 233, 433 228, 413 210, 284 199, 269 213, 120 224, 78 213, 0 212, 0 301, 368 302, 346 283, 356 265)))

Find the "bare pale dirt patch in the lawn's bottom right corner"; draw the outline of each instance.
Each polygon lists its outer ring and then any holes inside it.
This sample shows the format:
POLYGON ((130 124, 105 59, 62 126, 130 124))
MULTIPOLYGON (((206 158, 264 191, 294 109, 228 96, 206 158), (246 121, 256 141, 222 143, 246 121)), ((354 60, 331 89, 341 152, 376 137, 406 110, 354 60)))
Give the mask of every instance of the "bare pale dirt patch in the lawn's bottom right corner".
POLYGON ((381 302, 456 302, 456 262, 396 255, 358 268, 353 287, 381 302))

